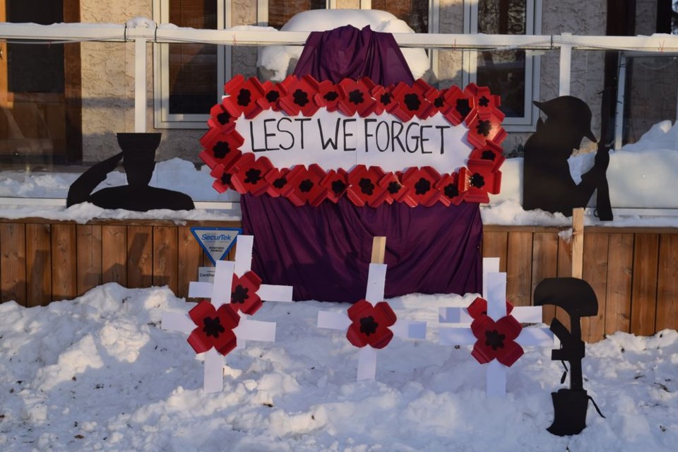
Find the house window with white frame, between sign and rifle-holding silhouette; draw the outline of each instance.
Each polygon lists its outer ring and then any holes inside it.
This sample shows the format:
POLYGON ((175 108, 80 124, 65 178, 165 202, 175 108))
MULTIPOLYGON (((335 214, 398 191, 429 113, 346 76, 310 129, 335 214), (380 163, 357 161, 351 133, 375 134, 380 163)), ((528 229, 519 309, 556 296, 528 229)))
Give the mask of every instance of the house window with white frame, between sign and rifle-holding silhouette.
MULTIPOLYGON (((540 32, 540 0, 477 0, 469 2, 465 31, 493 35, 540 32)), ((533 130, 537 119, 532 100, 539 97, 539 57, 525 50, 468 52, 465 83, 488 86, 501 95, 507 131, 533 130)))

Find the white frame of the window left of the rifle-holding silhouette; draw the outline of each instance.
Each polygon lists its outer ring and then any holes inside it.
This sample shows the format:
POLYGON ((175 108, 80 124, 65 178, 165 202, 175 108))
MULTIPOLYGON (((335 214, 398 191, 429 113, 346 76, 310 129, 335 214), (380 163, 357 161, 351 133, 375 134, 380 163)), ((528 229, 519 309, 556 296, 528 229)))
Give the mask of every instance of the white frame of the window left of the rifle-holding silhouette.
MULTIPOLYGON (((526 0, 527 20, 525 35, 540 35, 542 32, 542 0, 526 0)), ((464 33, 478 32, 478 0, 464 1, 464 33)), ((465 52, 463 57, 463 85, 477 81, 478 51, 465 52)), ((533 132, 537 127, 539 112, 533 100, 539 99, 541 59, 539 54, 525 50, 525 114, 522 117, 506 117, 501 124, 507 132, 533 132)), ((501 93, 496 93, 501 94, 501 93)))

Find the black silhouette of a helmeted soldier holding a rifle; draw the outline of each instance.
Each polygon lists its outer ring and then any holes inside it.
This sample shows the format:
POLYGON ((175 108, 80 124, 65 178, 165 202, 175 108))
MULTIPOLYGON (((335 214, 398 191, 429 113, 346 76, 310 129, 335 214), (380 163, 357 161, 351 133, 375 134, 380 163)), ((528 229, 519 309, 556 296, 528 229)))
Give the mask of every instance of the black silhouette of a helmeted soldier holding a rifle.
POLYGON ((591 110, 583 100, 561 96, 547 102, 534 102, 547 115, 537 121, 537 131, 525 143, 523 160, 523 208, 542 209, 572 215, 572 209, 585 207, 598 189, 597 213, 601 220, 612 220, 607 189, 609 153, 598 145, 593 167, 576 184, 568 158, 584 137, 596 142, 591 132, 591 110))

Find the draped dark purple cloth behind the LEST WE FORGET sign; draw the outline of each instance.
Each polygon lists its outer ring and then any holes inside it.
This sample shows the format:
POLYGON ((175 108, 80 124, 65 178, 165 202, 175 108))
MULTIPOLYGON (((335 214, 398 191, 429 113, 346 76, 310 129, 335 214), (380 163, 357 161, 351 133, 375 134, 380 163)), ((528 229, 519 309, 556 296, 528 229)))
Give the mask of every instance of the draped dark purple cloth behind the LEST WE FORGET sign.
MULTIPOLYGON (((295 75, 334 83, 369 76, 412 83, 388 33, 350 25, 312 32, 295 75)), ((347 168, 350 169, 350 168, 347 168)), ((254 235, 253 270, 267 284, 294 286, 294 299, 357 302, 364 298, 372 239, 386 236, 386 297, 480 292, 482 220, 475 203, 358 208, 346 198, 295 207, 285 198, 242 196, 242 225, 254 235)))

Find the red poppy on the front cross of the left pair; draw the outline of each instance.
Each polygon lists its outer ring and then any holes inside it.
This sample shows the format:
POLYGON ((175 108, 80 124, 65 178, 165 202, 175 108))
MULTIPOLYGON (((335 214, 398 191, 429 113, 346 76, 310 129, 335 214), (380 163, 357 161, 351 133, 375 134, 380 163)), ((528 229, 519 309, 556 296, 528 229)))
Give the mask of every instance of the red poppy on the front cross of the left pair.
POLYGON ((215 309, 210 302, 200 302, 189 311, 189 317, 196 328, 189 335, 188 342, 196 353, 204 353, 214 347, 221 355, 237 346, 233 329, 240 323, 240 316, 230 304, 215 309))

